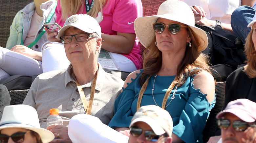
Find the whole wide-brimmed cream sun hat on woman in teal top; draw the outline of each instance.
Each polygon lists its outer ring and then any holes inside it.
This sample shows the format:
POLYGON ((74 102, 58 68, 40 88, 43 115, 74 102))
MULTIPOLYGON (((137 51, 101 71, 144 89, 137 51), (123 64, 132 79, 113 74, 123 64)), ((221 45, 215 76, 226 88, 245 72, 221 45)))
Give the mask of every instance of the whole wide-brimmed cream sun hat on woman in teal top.
POLYGON ((198 51, 203 51, 207 47, 207 35, 202 29, 195 26, 193 11, 186 3, 179 0, 167 0, 160 5, 157 15, 138 17, 134 21, 135 33, 144 47, 147 48, 154 40, 155 32, 153 24, 158 18, 173 20, 188 25, 193 33, 199 36, 198 40, 201 44, 197 47, 198 51))

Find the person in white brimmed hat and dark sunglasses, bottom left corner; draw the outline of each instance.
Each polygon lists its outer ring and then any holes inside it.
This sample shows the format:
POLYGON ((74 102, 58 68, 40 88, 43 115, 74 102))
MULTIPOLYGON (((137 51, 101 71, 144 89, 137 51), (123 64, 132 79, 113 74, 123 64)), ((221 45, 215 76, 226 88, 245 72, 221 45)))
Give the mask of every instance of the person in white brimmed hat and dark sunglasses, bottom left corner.
POLYGON ((36 110, 29 105, 9 105, 0 121, 0 142, 48 143, 54 139, 51 131, 40 128, 36 110))

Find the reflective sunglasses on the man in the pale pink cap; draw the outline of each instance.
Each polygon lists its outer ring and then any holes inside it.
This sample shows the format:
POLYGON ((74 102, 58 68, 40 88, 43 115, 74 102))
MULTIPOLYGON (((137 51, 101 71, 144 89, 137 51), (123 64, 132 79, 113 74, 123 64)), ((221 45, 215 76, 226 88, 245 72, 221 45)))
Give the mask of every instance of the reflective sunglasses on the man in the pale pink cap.
MULTIPOLYGON (((218 119, 217 124, 220 129, 227 130, 227 128, 230 126, 230 121, 228 119, 218 119)), ((240 120, 233 121, 232 125, 233 125, 233 129, 238 132, 243 132, 248 127, 256 126, 240 120)))

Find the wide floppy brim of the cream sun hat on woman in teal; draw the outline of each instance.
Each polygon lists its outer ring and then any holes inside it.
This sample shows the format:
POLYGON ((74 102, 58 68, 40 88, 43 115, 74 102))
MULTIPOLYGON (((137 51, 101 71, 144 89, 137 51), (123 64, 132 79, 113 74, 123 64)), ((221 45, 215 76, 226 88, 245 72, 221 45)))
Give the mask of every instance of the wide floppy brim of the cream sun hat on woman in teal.
MULTIPOLYGON (((186 24, 185 21, 179 20, 181 18, 177 18, 176 15, 172 15, 172 14, 162 14, 162 15, 138 17, 134 21, 135 33, 136 33, 140 43, 146 48, 154 40, 155 32, 153 30, 153 24, 156 22, 156 20, 158 18, 164 18, 164 19, 173 20, 173 21, 177 21, 177 22, 186 24)), ((186 25, 192 29, 192 31, 195 35, 198 35, 198 37, 199 37, 198 40, 199 40, 200 45, 197 48, 198 48, 198 51, 200 51, 200 52, 203 51, 208 46, 208 37, 207 37, 206 33, 202 29, 196 27, 195 25, 193 25, 193 26, 188 25, 188 24, 186 24, 186 25)))

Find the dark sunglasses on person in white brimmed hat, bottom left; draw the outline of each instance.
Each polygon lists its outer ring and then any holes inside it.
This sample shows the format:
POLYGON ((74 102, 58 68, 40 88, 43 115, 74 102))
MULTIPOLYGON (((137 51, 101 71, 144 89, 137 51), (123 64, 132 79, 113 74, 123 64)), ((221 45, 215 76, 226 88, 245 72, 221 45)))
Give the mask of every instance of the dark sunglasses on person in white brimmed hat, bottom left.
POLYGON ((11 136, 5 135, 5 134, 0 134, 0 143, 7 143, 9 138, 11 137, 11 139, 15 142, 15 143, 21 143, 24 141, 25 138, 25 134, 29 133, 31 131, 27 131, 27 132, 18 132, 18 133, 14 133, 11 136))

